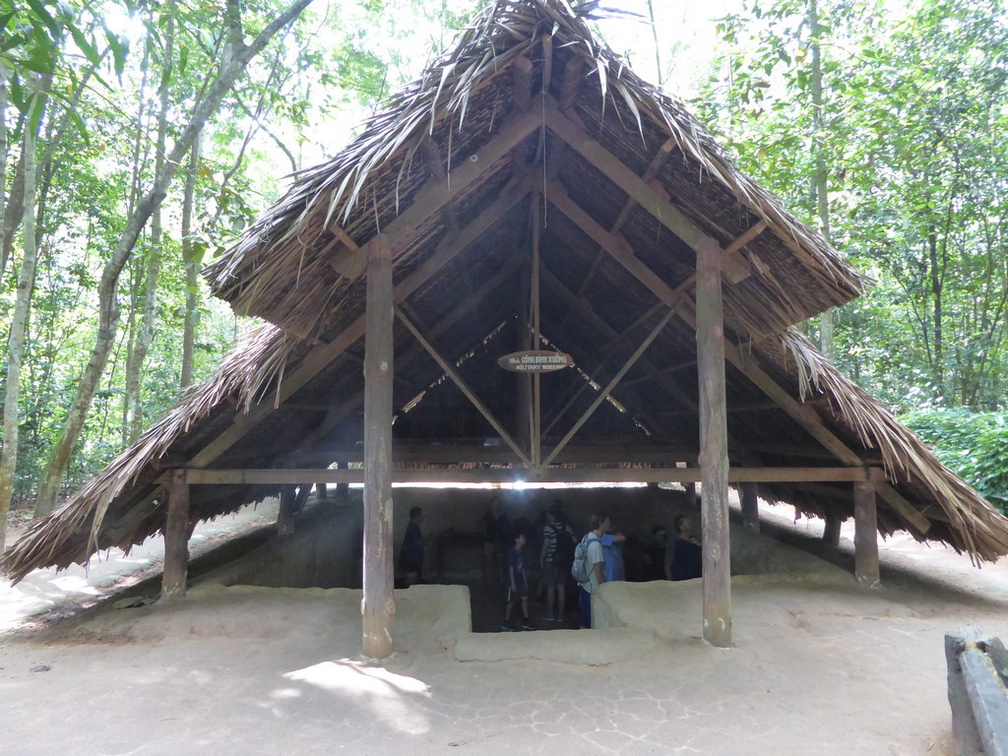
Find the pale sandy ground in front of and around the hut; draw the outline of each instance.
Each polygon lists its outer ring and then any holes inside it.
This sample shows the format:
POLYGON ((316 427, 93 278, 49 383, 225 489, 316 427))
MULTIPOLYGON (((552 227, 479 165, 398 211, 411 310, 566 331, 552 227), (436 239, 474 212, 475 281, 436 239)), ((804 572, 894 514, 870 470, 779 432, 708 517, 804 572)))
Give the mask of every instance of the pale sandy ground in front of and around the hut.
POLYGON ((467 589, 417 586, 382 665, 360 657, 346 589, 91 609, 0 635, 0 752, 950 753, 943 634, 1008 639, 1008 562, 901 536, 882 553, 877 591, 840 568, 735 579, 728 650, 700 639, 690 584, 612 584, 625 627, 516 634, 470 633, 467 589))

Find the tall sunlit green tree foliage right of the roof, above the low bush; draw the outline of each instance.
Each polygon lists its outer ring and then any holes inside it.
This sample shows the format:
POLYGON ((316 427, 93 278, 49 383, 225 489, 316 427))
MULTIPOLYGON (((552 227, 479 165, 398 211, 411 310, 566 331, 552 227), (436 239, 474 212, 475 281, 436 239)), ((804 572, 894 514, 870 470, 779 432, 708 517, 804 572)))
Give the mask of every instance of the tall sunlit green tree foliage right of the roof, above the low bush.
POLYGON ((696 105, 806 222, 822 147, 833 241, 877 281, 839 312, 841 366, 901 410, 997 409, 1008 369, 1002 3, 820 3, 817 126, 810 7, 750 2, 722 19, 723 56, 696 105))

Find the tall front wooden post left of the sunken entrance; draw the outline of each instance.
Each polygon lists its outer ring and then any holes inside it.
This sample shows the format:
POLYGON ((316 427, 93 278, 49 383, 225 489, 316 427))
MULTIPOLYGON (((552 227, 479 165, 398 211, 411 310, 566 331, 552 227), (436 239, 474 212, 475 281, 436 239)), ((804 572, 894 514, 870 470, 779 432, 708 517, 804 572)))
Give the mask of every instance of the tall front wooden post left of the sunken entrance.
POLYGON ((392 250, 368 245, 364 342, 364 654, 392 653, 395 562, 392 546, 392 250))

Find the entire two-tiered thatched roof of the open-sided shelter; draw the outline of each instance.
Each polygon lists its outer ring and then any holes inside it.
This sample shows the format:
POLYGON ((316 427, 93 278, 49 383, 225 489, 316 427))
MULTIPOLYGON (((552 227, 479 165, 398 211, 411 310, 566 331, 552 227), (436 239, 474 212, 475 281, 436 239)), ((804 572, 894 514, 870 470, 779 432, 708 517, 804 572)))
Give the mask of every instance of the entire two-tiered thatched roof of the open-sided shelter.
MULTIPOLYGON (((541 379, 543 447, 556 444, 629 355, 603 403, 545 472, 696 464, 696 248, 725 249, 734 466, 885 470, 879 530, 906 529, 976 559, 1008 553, 1008 521, 844 378, 791 327, 857 295, 858 274, 743 175, 681 105, 640 81, 562 0, 500 2, 392 99, 360 137, 301 172, 209 270, 266 326, 211 381, 9 551, 15 579, 128 547, 164 521, 176 468, 308 468, 360 459, 367 245, 391 242, 397 467, 451 479, 523 476, 469 390, 521 443, 522 378, 497 368, 540 333, 577 368, 541 379), (531 271, 532 248, 540 264, 531 271), (663 318, 675 311, 667 325, 663 318), (281 330, 282 329, 282 330, 281 330), (594 386, 594 388, 592 388, 594 386)), ((523 431, 524 428, 524 431, 523 431)), ((524 438, 523 438, 524 432, 524 438)), ((817 516, 852 516, 851 484, 761 483, 817 516)), ((277 485, 196 485, 195 520, 277 485)))

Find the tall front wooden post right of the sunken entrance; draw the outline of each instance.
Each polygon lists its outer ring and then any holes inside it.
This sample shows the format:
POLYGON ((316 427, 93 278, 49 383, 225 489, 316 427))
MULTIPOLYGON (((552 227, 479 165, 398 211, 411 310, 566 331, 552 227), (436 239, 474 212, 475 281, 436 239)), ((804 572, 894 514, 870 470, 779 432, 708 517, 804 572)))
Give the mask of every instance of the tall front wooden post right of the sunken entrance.
POLYGON ((704 533, 704 639, 732 645, 728 522, 728 401, 721 247, 705 238, 697 250, 697 366, 700 386, 701 520, 704 533))

